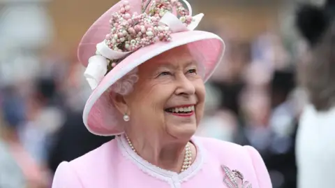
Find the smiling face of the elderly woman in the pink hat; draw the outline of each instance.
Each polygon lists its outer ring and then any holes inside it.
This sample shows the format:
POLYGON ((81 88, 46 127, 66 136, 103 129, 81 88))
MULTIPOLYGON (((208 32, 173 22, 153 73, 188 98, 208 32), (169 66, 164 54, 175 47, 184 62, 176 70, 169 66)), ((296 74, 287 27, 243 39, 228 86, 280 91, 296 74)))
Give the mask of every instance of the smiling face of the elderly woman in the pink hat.
POLYGON ((205 90, 188 48, 174 48, 150 59, 138 67, 138 75, 133 92, 124 97, 123 113, 130 115, 131 129, 190 138, 202 118, 205 90))

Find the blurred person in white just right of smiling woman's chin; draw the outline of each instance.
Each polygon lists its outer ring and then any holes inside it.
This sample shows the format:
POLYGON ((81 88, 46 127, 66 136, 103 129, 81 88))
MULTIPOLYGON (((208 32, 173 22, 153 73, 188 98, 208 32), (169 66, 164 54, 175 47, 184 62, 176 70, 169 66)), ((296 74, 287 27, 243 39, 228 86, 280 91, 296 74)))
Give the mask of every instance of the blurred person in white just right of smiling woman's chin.
POLYGON ((204 117, 197 135, 233 141, 237 129, 237 117, 228 109, 221 109, 222 94, 211 83, 206 85, 204 117))

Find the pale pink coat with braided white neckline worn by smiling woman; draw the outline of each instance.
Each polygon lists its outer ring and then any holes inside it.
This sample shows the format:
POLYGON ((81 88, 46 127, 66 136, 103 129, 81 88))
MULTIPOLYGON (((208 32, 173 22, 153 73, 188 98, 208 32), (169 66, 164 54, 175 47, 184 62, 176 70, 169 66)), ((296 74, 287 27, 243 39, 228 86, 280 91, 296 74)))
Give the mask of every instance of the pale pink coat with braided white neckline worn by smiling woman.
POLYGON ((198 150, 194 163, 174 173, 149 164, 131 150, 125 136, 117 136, 82 157, 62 162, 52 188, 242 188, 226 183, 230 181, 228 168, 242 173, 253 188, 272 187, 264 161, 253 147, 196 136, 191 141, 198 150))

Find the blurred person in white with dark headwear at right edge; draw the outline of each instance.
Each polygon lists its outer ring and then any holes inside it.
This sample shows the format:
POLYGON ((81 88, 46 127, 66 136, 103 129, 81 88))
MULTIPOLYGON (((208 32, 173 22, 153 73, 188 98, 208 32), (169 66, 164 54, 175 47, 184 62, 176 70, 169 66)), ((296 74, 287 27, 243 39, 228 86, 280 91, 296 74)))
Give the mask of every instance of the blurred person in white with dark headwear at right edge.
POLYGON ((335 176, 335 1, 304 5, 297 28, 309 49, 299 71, 310 103, 304 107, 297 133, 298 187, 334 187, 335 176))

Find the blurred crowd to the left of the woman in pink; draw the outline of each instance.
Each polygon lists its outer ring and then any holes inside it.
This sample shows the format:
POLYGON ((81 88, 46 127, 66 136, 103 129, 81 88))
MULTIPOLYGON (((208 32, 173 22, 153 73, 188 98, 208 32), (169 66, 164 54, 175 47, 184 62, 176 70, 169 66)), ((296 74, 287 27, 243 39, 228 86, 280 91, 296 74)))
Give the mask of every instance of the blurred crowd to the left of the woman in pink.
POLYGON ((1 188, 49 187, 61 161, 111 139, 92 135, 82 124, 90 91, 76 75, 81 67, 57 58, 48 57, 29 80, 1 85, 1 188))

